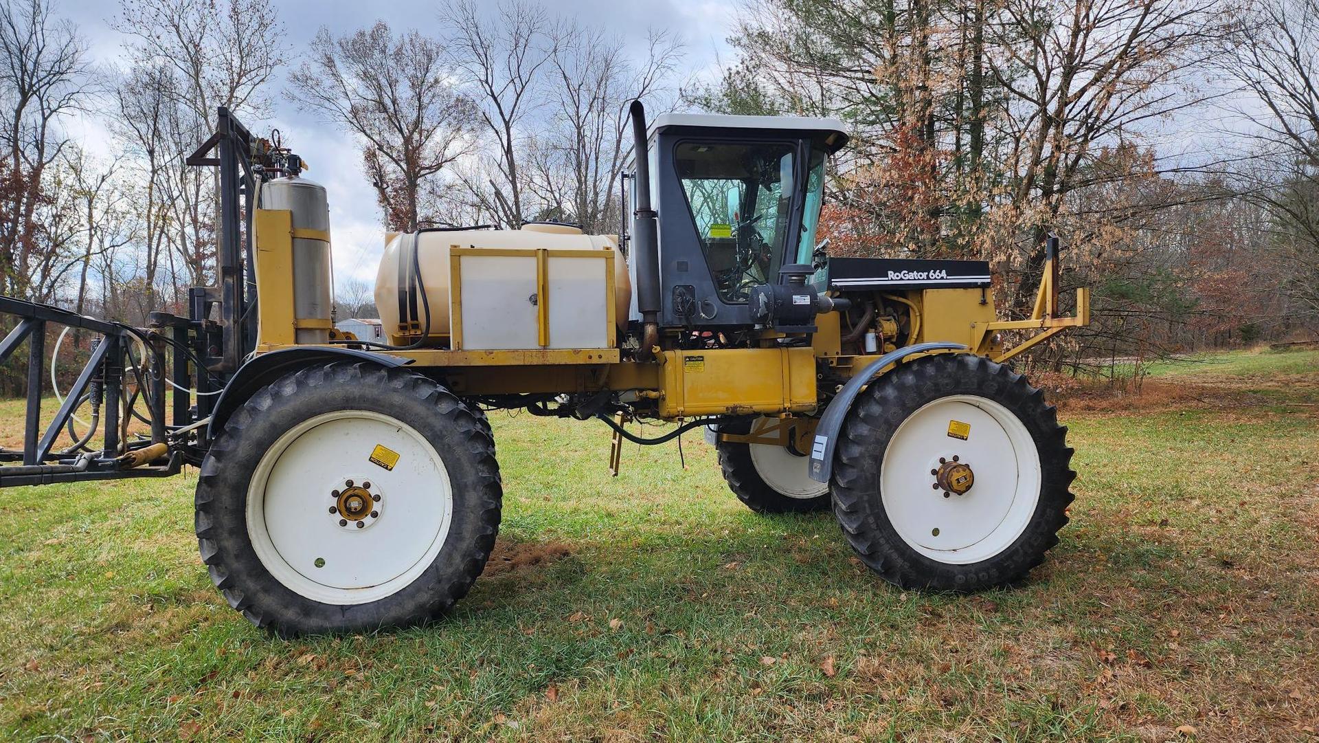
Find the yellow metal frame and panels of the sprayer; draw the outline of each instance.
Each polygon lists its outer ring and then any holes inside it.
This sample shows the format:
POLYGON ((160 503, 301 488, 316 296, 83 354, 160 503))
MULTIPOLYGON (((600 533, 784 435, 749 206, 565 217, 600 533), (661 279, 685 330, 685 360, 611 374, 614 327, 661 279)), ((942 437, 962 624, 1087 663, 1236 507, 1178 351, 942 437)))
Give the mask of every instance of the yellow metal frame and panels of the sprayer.
MULTIPOLYGON (((259 306, 257 352, 290 347, 314 347, 295 343, 299 327, 327 327, 326 321, 298 321, 293 313, 293 239, 328 240, 328 234, 295 230, 291 212, 256 210, 256 281, 261 297, 259 306)), ((814 413, 818 406, 816 360, 826 362, 838 376, 849 377, 877 359, 874 355, 843 355, 839 315, 819 315, 819 331, 810 346, 773 344, 780 335, 761 334, 761 348, 656 348, 654 362, 623 360, 612 340, 607 348, 547 348, 549 301, 547 265, 551 251, 525 248, 463 248, 451 245, 451 348, 418 348, 388 351, 412 359, 414 368, 437 370, 459 395, 512 395, 595 392, 600 389, 637 391, 640 397, 656 400, 658 417, 665 420, 712 414, 769 414, 793 418, 814 413), (532 256, 537 259, 538 339, 541 348, 464 350, 462 338, 462 257, 532 256)), ((613 251, 553 251, 554 256, 598 257, 605 261, 608 276, 608 323, 615 326, 613 251)), ((907 296, 882 294, 885 300, 904 304, 910 310, 910 335, 915 340, 954 340, 969 352, 1008 360, 1051 338, 1067 327, 1089 323, 1089 290, 1076 290, 1076 315, 1060 317, 1058 311, 1058 265, 1050 256, 1045 277, 1029 319, 998 321, 995 318, 992 292, 987 289, 925 289, 907 296), (1018 344, 1004 350, 1000 331, 1030 331, 1018 344)), ((332 330, 332 327, 331 327, 332 330)), ((336 346, 342 347, 342 346, 336 346)), ((880 352, 884 350, 880 348, 880 352)), ((797 418, 799 420, 799 418, 797 418)), ((786 430, 786 429, 783 429, 786 430)), ((769 437, 761 432, 757 437, 769 437)), ((773 433, 786 436, 786 433, 773 433)))

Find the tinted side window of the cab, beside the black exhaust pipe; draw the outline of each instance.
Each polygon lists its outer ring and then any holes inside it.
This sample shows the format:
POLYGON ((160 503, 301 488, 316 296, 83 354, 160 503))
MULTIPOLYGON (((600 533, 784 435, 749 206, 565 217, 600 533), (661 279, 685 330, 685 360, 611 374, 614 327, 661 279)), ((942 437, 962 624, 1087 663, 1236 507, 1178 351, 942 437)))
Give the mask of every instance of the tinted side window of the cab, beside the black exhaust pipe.
POLYGON ((776 143, 678 145, 678 178, 725 304, 744 304, 752 286, 774 281, 791 216, 794 150, 776 143))

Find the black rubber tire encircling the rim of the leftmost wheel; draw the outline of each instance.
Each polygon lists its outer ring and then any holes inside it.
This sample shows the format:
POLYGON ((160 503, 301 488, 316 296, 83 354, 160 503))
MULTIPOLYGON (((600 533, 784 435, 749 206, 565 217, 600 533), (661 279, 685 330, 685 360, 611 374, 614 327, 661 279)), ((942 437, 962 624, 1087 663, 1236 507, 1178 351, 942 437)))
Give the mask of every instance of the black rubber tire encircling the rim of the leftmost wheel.
POLYGON ((434 380, 402 368, 332 362, 289 372, 235 410, 199 470, 194 524, 198 550, 211 582, 230 607, 248 622, 285 637, 373 631, 435 619, 467 595, 484 569, 499 533, 503 483, 489 424, 434 380), (463 480, 454 484, 455 521, 450 532, 450 540, 458 537, 454 544, 459 553, 446 556, 442 550, 427 573, 398 593, 375 602, 328 604, 289 590, 261 565, 247 534, 248 479, 256 467, 253 458, 262 451, 252 450, 253 445, 245 439, 255 433, 261 433, 262 438, 277 438, 280 432, 260 430, 270 425, 268 412, 294 405, 295 397, 301 399, 315 388, 392 389, 404 400, 422 403, 427 414, 447 432, 447 441, 466 450, 462 463, 467 471, 455 472, 446 462, 450 478, 463 480), (455 534, 459 487, 466 487, 463 499, 468 507, 463 515, 464 531, 455 534), (438 567, 441 558, 447 561, 447 570, 438 567))

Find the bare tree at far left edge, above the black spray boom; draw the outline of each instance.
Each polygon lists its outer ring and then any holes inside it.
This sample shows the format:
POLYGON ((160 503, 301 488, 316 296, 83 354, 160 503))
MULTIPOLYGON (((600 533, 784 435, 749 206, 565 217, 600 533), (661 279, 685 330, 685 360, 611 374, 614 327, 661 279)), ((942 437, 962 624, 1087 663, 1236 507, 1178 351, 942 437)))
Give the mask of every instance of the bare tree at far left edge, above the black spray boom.
POLYGON ((0 4, 0 290, 5 294, 53 290, 40 282, 38 268, 54 251, 54 232, 37 212, 50 202, 46 169, 66 144, 57 121, 86 99, 90 74, 77 29, 53 18, 45 0, 0 4))

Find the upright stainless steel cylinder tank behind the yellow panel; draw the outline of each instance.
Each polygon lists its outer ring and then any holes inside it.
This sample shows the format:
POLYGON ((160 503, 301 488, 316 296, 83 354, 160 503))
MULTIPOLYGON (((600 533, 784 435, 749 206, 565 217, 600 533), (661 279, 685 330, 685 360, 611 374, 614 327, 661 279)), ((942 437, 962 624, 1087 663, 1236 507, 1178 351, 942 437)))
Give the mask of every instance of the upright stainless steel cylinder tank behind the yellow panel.
POLYGON ((261 209, 293 212, 293 317, 299 326, 301 321, 322 321, 317 325, 324 326, 298 327, 295 339, 298 343, 326 343, 334 310, 326 189, 306 178, 274 178, 261 186, 261 209), (299 231, 303 232, 299 235, 299 231))

